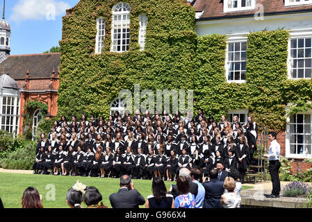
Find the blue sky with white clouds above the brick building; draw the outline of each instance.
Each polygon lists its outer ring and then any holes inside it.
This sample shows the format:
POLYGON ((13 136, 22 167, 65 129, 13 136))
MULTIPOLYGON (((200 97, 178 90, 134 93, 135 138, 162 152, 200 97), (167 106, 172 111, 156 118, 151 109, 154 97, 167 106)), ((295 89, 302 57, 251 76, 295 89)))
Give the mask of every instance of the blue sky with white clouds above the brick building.
MULTIPOLYGON (((10 24, 10 55, 49 51, 62 39, 62 17, 79 0, 6 0, 5 20, 10 24)), ((0 0, 3 11, 3 0, 0 0)))

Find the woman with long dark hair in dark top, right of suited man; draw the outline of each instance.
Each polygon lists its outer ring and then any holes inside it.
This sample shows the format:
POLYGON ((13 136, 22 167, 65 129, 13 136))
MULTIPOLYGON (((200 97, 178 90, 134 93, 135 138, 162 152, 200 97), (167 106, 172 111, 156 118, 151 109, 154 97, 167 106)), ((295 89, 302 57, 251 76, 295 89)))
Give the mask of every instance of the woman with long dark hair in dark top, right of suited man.
POLYGON ((167 194, 165 182, 161 178, 154 178, 151 190, 153 194, 147 196, 145 208, 174 208, 174 198, 167 194))

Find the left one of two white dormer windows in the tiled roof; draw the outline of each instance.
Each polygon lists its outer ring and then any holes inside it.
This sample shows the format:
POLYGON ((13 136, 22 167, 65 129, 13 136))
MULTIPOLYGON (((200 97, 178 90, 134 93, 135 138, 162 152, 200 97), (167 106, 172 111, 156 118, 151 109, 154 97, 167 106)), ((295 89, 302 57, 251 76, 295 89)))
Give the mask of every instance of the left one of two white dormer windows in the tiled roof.
POLYGON ((256 8, 256 0, 224 0, 224 12, 236 12, 242 10, 254 10, 256 8))

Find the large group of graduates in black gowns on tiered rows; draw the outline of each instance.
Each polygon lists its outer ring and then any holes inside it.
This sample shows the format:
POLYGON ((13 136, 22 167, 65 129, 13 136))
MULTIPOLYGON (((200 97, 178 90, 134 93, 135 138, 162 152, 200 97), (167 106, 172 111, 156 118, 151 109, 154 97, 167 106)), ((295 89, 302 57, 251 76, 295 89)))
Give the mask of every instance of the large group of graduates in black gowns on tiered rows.
POLYGON ((132 178, 163 177, 173 180, 181 167, 207 173, 221 162, 229 173, 238 171, 243 182, 256 151, 257 125, 252 117, 230 123, 206 117, 202 109, 191 118, 188 112, 174 116, 115 112, 104 120, 61 117, 49 135, 41 134, 33 164, 34 173, 72 176, 128 174, 132 178))

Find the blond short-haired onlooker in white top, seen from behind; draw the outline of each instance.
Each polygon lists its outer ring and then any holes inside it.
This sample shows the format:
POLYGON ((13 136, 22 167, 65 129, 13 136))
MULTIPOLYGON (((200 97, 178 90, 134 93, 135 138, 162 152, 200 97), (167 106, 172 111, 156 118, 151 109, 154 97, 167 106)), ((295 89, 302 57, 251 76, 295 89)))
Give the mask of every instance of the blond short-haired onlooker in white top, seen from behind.
POLYGON ((227 193, 222 194, 220 204, 224 208, 240 208, 242 198, 240 194, 237 194, 234 189, 236 187, 235 180, 231 177, 227 177, 223 183, 224 189, 227 189, 227 193))

